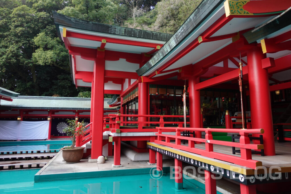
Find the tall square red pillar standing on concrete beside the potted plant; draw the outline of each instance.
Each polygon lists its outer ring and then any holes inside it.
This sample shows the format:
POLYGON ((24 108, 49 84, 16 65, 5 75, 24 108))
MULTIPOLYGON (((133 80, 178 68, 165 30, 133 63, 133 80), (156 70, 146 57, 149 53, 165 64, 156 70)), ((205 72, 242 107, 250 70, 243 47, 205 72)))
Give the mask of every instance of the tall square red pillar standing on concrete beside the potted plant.
MULTIPOLYGON (((99 51, 98 51, 99 52, 99 51)), ((103 142, 103 108, 104 108, 104 58, 97 58, 94 62, 93 72, 93 98, 91 98, 91 115, 92 121, 92 149, 91 159, 97 159, 102 156, 102 142, 103 142)))

